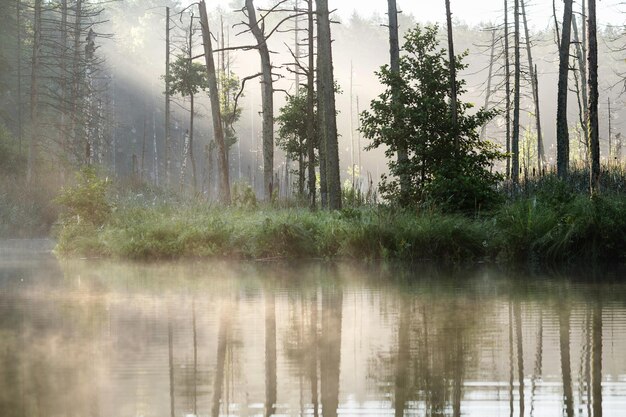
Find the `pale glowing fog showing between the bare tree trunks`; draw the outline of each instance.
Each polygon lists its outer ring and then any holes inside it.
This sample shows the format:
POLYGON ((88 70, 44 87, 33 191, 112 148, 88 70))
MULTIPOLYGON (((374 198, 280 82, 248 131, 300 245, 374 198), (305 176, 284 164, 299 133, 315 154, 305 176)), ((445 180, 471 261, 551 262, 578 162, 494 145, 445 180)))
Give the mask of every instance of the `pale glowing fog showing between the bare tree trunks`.
MULTIPOLYGON (((341 93, 337 95, 337 108, 339 111, 337 122, 339 129, 339 149, 342 167, 342 176, 349 177, 349 169, 352 164, 361 162, 361 174, 364 178, 370 174, 377 181, 380 174, 386 172, 386 162, 381 150, 366 151, 364 148, 368 141, 361 137, 358 132, 358 111, 366 110, 370 101, 381 91, 375 72, 388 62, 388 32, 385 27, 385 15, 361 15, 358 10, 352 12, 340 11, 341 2, 335 2, 338 10, 335 13, 336 24, 332 27, 333 58, 335 78, 341 93)), ((533 2, 534 3, 534 2, 533 2)), ((544 141, 548 161, 551 165, 556 162, 556 84, 558 79, 558 47, 555 42, 554 24, 552 17, 545 14, 545 7, 530 3, 527 6, 527 14, 530 26, 530 42, 533 48, 535 64, 538 68, 539 94, 541 103, 541 118, 544 125, 544 141)), ((558 3, 558 2, 557 2, 558 3)), ((561 7, 561 5, 557 5, 561 7)), ((211 8, 211 5, 209 5, 211 8)), ((263 7, 263 6, 259 6, 263 7)), ((402 8, 402 2, 399 3, 402 8)), ((443 9, 443 6, 440 7, 443 9)), ((612 16, 615 6, 605 6, 607 13, 612 16)), ((210 11, 211 27, 216 33, 217 42, 221 43, 221 30, 223 23, 225 42, 231 46, 245 46, 254 43, 250 34, 238 35, 241 26, 237 26, 244 18, 241 13, 241 4, 234 1, 229 6, 213 8, 210 11), (233 27, 234 26, 234 27, 233 27)), ((193 8, 176 16, 176 28, 172 35, 172 53, 181 53, 186 44, 185 34, 189 22, 190 13, 197 11, 193 8)), ((163 74, 165 72, 165 17, 164 4, 158 1, 147 2, 123 2, 113 6, 110 12, 110 24, 104 32, 114 33, 111 39, 102 39, 101 53, 106 58, 106 65, 111 77, 111 94, 115 98, 115 109, 112 115, 115 120, 115 134, 119 143, 117 159, 121 165, 120 172, 130 169, 133 154, 141 153, 144 119, 148 120, 148 135, 152 133, 152 120, 156 120, 156 135, 159 146, 163 132, 163 74)), ((172 12, 174 13, 174 12, 172 12)), ((442 10, 442 19, 445 17, 442 10)), ((557 9, 557 19, 560 19, 561 9, 557 9)), ((455 15, 456 16, 456 15, 455 15)), ((579 17, 580 18, 580 17, 579 17)), ((279 19, 278 17, 276 18, 279 19)), ((462 16, 455 20, 455 48, 457 52, 467 51, 466 58, 468 68, 460 76, 467 81, 467 93, 464 100, 475 103, 477 107, 485 103, 487 78, 491 58, 492 32, 495 30, 496 51, 493 64, 492 94, 489 107, 503 108, 503 70, 502 67, 502 25, 494 22, 482 22, 466 24, 462 16)), ((400 15, 400 31, 412 28, 416 23, 428 23, 419 19, 412 13, 400 15)), ((437 23, 437 22, 435 22, 437 23)), ((299 23, 304 25, 302 20, 299 23)), ((580 24, 580 23, 579 23, 580 24)), ((294 23, 289 22, 283 27, 285 31, 294 28, 294 23)), ((442 48, 445 45, 444 28, 440 25, 442 48)), ((600 79, 602 99, 600 101, 600 136, 601 147, 608 147, 608 100, 612 103, 612 129, 613 135, 621 132, 623 128, 623 83, 621 73, 626 70, 624 60, 620 52, 621 41, 619 40, 619 28, 603 26, 601 42, 599 45, 600 56, 603 57, 600 65, 600 79)), ((304 35, 300 35, 302 37, 304 35)), ((401 35, 402 36, 402 35, 401 35)), ((202 45, 199 31, 195 33, 194 50, 200 55, 202 45)), ((304 54, 306 46, 301 43, 301 54, 304 54)), ((525 39, 522 39, 525 42, 525 39)), ((293 31, 278 33, 272 37, 269 46, 272 54, 272 62, 277 67, 276 72, 280 79, 276 84, 279 91, 275 98, 275 112, 284 104, 286 94, 295 94, 296 77, 293 73, 293 57, 289 51, 295 51, 296 39, 293 31), (291 70, 291 71, 290 71, 291 70)), ((525 64, 525 45, 522 44, 522 63, 525 64)), ((256 50, 234 51, 226 59, 230 69, 240 78, 256 74, 260 70, 260 61, 256 50)), ((219 58, 218 58, 219 60, 219 58)), ((306 60, 306 58, 305 58, 306 60)), ((200 59, 201 61, 201 59, 200 59)), ((534 126, 532 113, 534 112, 530 90, 530 80, 527 77, 527 65, 522 80, 522 137, 525 134, 533 135, 534 126), (526 76, 526 79, 524 79, 526 76)), ((573 77, 572 77, 573 78, 573 77)), ((300 77, 300 83, 304 83, 300 77)), ((573 84, 573 82, 571 83, 573 84)), ((573 87, 572 87, 573 88, 573 87)), ((569 98, 569 120, 572 124, 573 148, 582 147, 576 144, 576 121, 578 120, 578 103, 575 94, 569 98)), ((180 97, 174 99, 174 141, 178 154, 182 152, 182 136, 188 129, 188 100, 180 97)), ((211 116, 209 100, 206 95, 198 99, 197 137, 195 144, 197 155, 208 141, 212 139, 211 116)), ((254 181, 254 177, 262 170, 261 147, 261 91, 258 80, 252 80, 246 84, 244 95, 240 100, 242 116, 237 122, 235 129, 238 143, 231 149, 230 170, 234 179, 246 178, 254 181), (241 161, 241 162, 239 162, 241 161), (255 168, 256 167, 256 168, 255 168)), ((487 128, 487 137, 503 145, 504 129, 503 117, 498 117, 487 128)), ((580 126, 578 126, 578 130, 580 126)), ((578 135, 580 136, 580 134, 578 135)), ((582 140, 582 139, 580 139, 582 140)), ((504 146, 504 145, 503 145, 504 146)), ((160 149, 160 148, 159 148, 160 149)), ((146 161, 153 164, 153 148, 146 149, 146 161)), ((581 151, 582 152, 582 151, 581 151)), ((532 156, 534 157, 534 156, 532 156)), ((606 156, 605 156, 606 157, 606 156)), ((176 158, 176 157, 175 157, 176 158)), ((523 155, 522 155, 523 158, 523 155)), ((180 158, 179 158, 180 159, 180 158)), ((162 161, 160 162, 162 163, 162 161)), ((275 170, 284 172, 284 154, 277 153, 275 170)), ((146 165, 148 163, 146 162, 146 165)), ((154 180, 154 170, 150 165, 151 178, 154 180)), ((203 168, 206 169, 206 168, 203 168)), ((282 178, 282 177, 281 177, 282 178)), ((257 187, 260 180, 256 181, 257 187)))

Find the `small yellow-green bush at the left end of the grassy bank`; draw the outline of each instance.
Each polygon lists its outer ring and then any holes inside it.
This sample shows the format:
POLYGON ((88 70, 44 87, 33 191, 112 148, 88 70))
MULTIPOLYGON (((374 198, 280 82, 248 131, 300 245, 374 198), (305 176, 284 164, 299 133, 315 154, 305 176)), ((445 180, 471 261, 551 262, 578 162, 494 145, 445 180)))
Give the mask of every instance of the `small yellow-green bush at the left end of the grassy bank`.
POLYGON ((66 208, 69 219, 102 226, 112 212, 106 196, 109 186, 107 178, 99 178, 93 167, 85 167, 76 174, 76 185, 63 188, 56 201, 66 208))

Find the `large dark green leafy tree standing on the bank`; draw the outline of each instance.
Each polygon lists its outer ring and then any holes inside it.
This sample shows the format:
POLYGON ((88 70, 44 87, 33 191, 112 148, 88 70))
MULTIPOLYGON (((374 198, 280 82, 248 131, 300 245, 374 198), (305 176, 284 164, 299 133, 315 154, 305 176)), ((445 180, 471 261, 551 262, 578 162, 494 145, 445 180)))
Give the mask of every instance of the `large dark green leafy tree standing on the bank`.
MULTIPOLYGON (((386 90, 361 114, 361 131, 372 141, 369 149, 386 146, 390 177, 384 176, 382 195, 400 203, 398 178, 410 179, 409 204, 432 202, 447 211, 486 208, 498 200, 493 173, 495 160, 503 158, 491 142, 481 141, 479 130, 496 112, 457 100, 458 119, 450 117, 449 61, 439 49, 438 27, 417 26, 405 36, 400 72, 383 66, 377 72, 386 90), (458 144, 458 152, 455 149, 458 144), (406 143, 409 158, 395 161, 397 144, 406 143)), ((456 58, 457 73, 466 68, 464 53, 456 58)), ((464 80, 457 80, 460 97, 464 80)))

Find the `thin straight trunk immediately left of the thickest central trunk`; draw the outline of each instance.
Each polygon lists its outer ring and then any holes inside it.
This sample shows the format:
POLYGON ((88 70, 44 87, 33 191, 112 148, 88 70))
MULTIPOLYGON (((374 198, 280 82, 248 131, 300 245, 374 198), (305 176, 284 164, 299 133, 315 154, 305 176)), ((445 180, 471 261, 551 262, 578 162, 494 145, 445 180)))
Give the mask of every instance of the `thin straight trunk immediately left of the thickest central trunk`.
POLYGON ((315 178, 315 46, 313 43, 315 35, 315 16, 313 15, 313 0, 308 3, 308 23, 309 23, 309 72, 307 73, 307 152, 309 159, 309 205, 315 209, 316 178, 315 178))

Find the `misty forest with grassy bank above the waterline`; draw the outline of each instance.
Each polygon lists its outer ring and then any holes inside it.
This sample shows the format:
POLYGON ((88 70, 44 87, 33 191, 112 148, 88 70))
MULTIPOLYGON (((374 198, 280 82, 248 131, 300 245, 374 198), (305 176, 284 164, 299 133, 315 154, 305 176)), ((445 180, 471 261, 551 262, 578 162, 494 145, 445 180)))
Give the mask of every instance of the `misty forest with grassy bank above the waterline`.
POLYGON ((395 0, 210 3, 3 0, 1 236, 153 260, 623 259, 617 5, 503 0, 469 24, 449 0, 434 22, 395 0))

